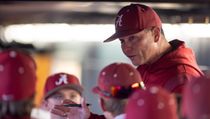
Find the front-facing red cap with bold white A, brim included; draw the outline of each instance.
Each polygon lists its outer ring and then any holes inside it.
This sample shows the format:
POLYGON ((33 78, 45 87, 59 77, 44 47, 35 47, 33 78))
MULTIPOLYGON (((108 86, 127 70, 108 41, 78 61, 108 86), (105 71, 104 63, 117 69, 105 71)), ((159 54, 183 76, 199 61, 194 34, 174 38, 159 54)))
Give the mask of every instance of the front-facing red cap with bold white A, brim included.
POLYGON ((56 73, 47 78, 44 89, 45 99, 63 88, 74 89, 80 95, 82 95, 83 92, 83 88, 76 76, 68 73, 56 73))

